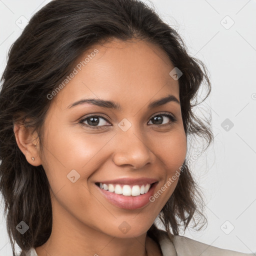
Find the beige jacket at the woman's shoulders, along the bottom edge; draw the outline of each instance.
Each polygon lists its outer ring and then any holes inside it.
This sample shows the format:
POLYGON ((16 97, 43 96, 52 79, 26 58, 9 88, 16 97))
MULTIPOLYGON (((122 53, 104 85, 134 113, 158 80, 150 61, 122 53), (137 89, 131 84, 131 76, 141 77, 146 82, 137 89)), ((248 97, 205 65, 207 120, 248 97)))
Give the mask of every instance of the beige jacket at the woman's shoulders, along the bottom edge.
MULTIPOLYGON (((157 237, 163 256, 252 256, 256 253, 242 253, 233 250, 221 249, 202 242, 195 241, 181 235, 174 235, 173 242, 166 231, 160 230, 157 237)), ((38 256, 34 248, 20 256, 38 256)))

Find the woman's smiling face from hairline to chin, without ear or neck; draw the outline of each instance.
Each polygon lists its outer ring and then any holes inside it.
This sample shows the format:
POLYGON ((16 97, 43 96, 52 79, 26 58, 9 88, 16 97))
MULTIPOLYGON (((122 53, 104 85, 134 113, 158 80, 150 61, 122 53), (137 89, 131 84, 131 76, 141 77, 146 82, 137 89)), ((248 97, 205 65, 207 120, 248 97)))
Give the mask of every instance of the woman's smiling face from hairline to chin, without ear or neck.
POLYGON ((73 78, 51 99, 44 123, 41 164, 53 223, 138 236, 172 194, 178 178, 171 177, 186 155, 178 80, 169 75, 174 66, 159 47, 135 39, 94 45, 75 65, 73 78), (169 101, 151 104, 169 95, 169 101), (89 98, 119 108, 75 103, 89 98), (103 181, 111 183, 110 191, 98 186, 103 181))

